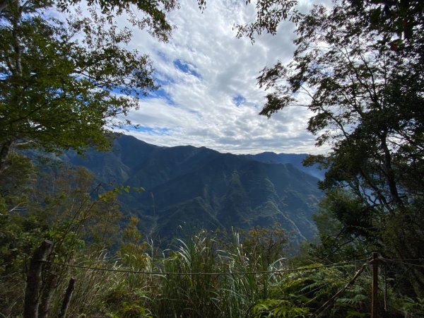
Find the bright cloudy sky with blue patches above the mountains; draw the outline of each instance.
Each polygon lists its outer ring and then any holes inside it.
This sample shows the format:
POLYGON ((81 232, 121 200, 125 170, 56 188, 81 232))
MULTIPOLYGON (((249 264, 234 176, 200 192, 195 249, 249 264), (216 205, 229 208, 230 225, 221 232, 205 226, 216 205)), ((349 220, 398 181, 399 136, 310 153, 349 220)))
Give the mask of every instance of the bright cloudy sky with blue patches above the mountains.
MULTIPOLYGON (((302 11, 310 6, 300 1, 302 11)), ((176 25, 169 42, 134 30, 130 48, 151 57, 161 88, 129 113, 140 128, 122 132, 158 146, 206 146, 224 153, 322 153, 307 132, 312 115, 307 108, 287 107, 270 119, 259 115, 266 91, 257 76, 278 60, 290 61, 295 27, 281 23, 276 36, 261 35, 252 45, 236 38, 233 25, 253 17, 254 6, 245 1, 210 0, 202 13, 196 0, 182 0, 169 15, 176 25)))

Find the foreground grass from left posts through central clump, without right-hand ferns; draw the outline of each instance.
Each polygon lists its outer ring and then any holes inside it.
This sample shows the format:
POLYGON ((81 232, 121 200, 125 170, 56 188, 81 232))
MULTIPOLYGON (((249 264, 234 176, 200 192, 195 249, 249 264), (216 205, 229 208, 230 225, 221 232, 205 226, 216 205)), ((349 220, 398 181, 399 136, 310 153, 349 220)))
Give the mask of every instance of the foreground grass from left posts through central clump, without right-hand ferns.
MULTIPOLYGON (((276 263, 265 268, 260 257, 245 252, 237 232, 224 243, 201 231, 157 254, 117 259, 102 251, 73 259, 73 264, 157 274, 69 268, 64 276, 77 282, 69 316, 245 317, 275 280, 269 273, 251 273, 273 269, 276 263)), ((67 282, 59 283, 52 313, 59 310, 67 282)))

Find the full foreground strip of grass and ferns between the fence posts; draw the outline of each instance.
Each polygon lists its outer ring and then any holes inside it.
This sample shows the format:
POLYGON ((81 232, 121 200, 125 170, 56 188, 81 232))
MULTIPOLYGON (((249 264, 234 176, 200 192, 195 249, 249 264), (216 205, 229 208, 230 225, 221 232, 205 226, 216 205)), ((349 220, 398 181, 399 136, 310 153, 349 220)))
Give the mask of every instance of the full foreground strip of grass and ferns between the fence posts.
MULTIPOLYGON (((160 253, 151 243, 143 252, 118 253, 119 257, 111 257, 104 250, 80 254, 70 262, 143 273, 74 267, 64 270, 52 265, 49 271, 61 272, 61 279, 52 298, 50 316, 59 312, 70 277, 76 278, 76 289, 68 317, 231 318, 273 317, 269 316, 272 310, 309 317, 309 310, 322 305, 349 276, 332 268, 263 273, 286 269, 285 259, 276 254, 280 258, 270 263, 261 248, 252 246, 236 231, 226 240, 201 231, 187 240, 176 240, 175 245, 160 253)), ((369 289, 367 283, 361 285, 369 289)), ((345 307, 362 308, 368 297, 364 289, 358 288, 348 290, 346 295, 349 297, 338 301, 342 312, 346 312, 345 307)))

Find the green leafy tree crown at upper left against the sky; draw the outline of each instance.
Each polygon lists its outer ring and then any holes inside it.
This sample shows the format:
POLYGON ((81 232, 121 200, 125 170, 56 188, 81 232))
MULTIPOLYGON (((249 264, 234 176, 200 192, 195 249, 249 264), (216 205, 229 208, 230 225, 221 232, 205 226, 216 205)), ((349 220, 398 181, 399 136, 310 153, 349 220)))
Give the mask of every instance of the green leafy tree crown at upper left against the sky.
POLYGON ((165 13, 177 2, 90 0, 86 17, 46 14, 78 3, 0 1, 0 173, 18 144, 46 151, 106 148, 105 133, 126 123, 117 117, 158 88, 150 59, 127 49, 131 32, 119 30, 114 18, 127 11, 132 23, 166 41, 172 27, 165 13), (141 20, 133 5, 146 13, 141 20))

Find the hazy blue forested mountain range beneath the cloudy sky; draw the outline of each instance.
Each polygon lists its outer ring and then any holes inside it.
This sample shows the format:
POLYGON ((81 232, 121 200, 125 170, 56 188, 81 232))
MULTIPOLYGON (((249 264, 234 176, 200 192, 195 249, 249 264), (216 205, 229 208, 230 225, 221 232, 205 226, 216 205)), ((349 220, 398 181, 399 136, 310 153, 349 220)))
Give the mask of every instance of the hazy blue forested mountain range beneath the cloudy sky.
POLYGON ((311 239, 311 216, 322 192, 315 168, 302 167, 306 155, 233 155, 193 146, 153 146, 119 136, 112 151, 73 151, 60 159, 81 165, 104 184, 143 187, 119 196, 122 211, 141 219, 148 235, 170 238, 179 225, 194 228, 251 228, 276 222, 295 240, 311 239))

